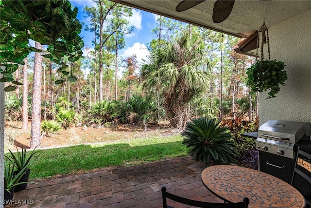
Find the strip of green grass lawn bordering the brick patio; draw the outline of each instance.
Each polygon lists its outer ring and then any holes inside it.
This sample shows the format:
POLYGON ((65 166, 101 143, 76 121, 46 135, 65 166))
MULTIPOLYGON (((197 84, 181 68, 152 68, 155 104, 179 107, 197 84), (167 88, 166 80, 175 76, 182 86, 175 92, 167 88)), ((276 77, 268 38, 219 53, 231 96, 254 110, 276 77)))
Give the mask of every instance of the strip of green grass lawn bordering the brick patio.
POLYGON ((30 180, 79 170, 126 166, 187 155, 179 135, 122 140, 42 150, 31 165, 30 180))

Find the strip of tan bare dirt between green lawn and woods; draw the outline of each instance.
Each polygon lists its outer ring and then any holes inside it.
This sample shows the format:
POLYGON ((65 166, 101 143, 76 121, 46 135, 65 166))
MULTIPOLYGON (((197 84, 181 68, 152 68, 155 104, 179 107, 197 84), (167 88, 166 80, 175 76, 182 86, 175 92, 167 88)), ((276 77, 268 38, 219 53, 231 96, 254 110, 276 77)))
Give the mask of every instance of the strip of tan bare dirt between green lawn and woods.
MULTIPOLYGON (((22 146, 30 145, 31 122, 28 130, 21 130, 21 122, 5 122, 6 148, 16 150, 22 146)), ((50 137, 44 136, 41 139, 41 148, 61 147, 68 145, 86 144, 94 142, 114 141, 122 139, 133 139, 141 137, 167 136, 180 132, 172 129, 167 122, 159 124, 147 124, 147 131, 142 125, 120 124, 117 128, 91 128, 91 127, 71 127, 61 130, 50 137)))

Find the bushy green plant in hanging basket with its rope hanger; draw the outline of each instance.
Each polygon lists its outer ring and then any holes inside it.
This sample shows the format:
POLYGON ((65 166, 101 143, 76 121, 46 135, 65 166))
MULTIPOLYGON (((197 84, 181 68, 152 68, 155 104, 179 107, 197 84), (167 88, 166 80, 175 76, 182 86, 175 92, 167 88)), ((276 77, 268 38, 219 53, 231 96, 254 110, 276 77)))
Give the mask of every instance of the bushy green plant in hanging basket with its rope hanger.
POLYGON ((246 84, 251 87, 253 92, 265 92, 270 90, 270 92, 268 92, 268 99, 276 97, 276 94, 280 90, 279 85, 285 85, 284 81, 287 80, 287 74, 284 70, 284 62, 270 60, 268 28, 264 21, 258 33, 256 59, 258 59, 260 32, 262 34, 260 60, 257 60, 255 64, 247 69, 246 74, 248 75, 248 80, 246 84), (265 32, 267 32, 267 34, 265 34, 265 32), (263 60, 263 44, 265 43, 268 43, 269 60, 263 60))

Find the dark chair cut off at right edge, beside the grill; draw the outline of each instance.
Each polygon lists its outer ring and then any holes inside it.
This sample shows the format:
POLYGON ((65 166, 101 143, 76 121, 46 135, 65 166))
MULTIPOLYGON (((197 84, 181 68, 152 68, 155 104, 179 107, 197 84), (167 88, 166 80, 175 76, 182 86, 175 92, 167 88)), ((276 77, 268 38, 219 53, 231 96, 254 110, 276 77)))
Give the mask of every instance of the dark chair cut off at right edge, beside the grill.
MULTIPOLYGON (((311 154, 302 151, 298 148, 296 162, 294 166, 294 172, 291 185, 299 190, 307 201, 307 208, 310 208, 311 203, 311 154), (298 176, 298 175, 299 176, 298 176), (299 177, 299 178, 298 178, 299 177), (299 179, 299 181, 297 181, 299 179), (309 184, 307 183, 309 182, 309 184), (301 187, 303 186, 303 188, 301 187), (305 187, 309 187, 309 191, 306 191, 305 187)), ((308 188, 307 188, 308 189, 308 188)))

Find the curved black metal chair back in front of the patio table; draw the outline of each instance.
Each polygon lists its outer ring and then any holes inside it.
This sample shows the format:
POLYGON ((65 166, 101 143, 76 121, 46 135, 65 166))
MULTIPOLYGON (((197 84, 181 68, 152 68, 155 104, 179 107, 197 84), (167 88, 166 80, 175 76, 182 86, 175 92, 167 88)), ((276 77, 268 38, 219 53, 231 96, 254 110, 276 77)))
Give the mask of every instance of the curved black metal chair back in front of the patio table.
POLYGON ((166 203, 166 198, 172 199, 175 202, 182 204, 198 207, 198 208, 247 208, 249 204, 249 199, 247 197, 243 198, 242 202, 236 203, 212 203, 212 202, 201 202, 195 201, 180 196, 176 196, 172 193, 166 192, 166 188, 162 187, 162 199, 163 199, 163 208, 173 208, 166 203))

